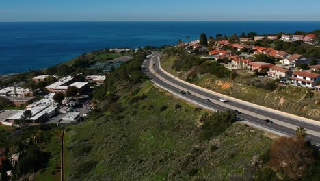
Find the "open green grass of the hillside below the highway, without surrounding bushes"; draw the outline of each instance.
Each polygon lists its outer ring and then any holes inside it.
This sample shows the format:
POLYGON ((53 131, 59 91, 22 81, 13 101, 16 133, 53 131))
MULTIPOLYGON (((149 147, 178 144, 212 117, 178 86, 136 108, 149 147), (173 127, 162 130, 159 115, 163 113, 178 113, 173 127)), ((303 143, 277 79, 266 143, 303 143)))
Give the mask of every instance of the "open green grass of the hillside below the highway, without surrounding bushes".
MULTIPOLYGON (((252 160, 271 143, 262 132, 240 123, 200 143, 197 121, 203 110, 153 88, 150 82, 138 94, 142 93, 148 98, 128 106, 123 117, 107 112, 101 119, 70 127, 66 147, 88 141, 93 148, 73 161, 76 156, 68 150, 69 174, 77 162, 95 160, 98 165, 80 180, 228 180, 250 173, 252 160), (176 104, 181 108, 176 110, 176 104), (163 105, 168 109, 161 112, 163 105), (195 169, 198 173, 192 173, 195 169)), ((126 104, 127 100, 121 97, 120 101, 126 104)), ((67 180, 75 180, 69 174, 67 180)))

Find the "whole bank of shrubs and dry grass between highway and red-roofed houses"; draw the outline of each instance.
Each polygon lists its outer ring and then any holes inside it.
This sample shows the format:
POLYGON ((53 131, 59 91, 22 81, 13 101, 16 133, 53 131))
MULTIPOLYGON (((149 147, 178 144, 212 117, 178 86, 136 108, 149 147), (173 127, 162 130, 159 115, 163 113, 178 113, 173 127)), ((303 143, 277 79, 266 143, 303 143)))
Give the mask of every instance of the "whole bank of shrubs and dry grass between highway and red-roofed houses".
POLYGON ((261 106, 320 121, 320 93, 286 86, 239 71, 229 71, 215 60, 201 60, 180 48, 165 49, 161 66, 182 80, 261 106), (177 65, 181 65, 181 68, 177 65))

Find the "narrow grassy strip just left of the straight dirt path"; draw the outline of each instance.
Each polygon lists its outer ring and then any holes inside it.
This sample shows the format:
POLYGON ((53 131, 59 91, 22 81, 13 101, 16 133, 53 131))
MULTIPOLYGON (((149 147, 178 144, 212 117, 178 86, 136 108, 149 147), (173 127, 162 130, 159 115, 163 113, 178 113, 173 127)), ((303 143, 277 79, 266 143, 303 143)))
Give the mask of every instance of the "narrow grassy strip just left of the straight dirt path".
POLYGON ((49 143, 46 143, 44 147, 44 152, 49 152, 50 160, 49 165, 43 171, 36 173, 35 180, 39 181, 57 181, 60 180, 60 172, 57 167, 60 167, 60 145, 61 145, 61 130, 55 129, 51 133, 51 139, 49 143), (54 174, 51 171, 55 170, 54 174))

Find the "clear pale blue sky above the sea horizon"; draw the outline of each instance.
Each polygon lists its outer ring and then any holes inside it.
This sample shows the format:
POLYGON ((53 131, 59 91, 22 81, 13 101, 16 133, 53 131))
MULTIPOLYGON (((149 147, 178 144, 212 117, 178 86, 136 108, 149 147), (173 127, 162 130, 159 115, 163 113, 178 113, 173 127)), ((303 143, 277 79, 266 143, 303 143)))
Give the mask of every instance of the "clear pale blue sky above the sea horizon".
POLYGON ((319 0, 0 0, 0 21, 320 21, 319 0))

